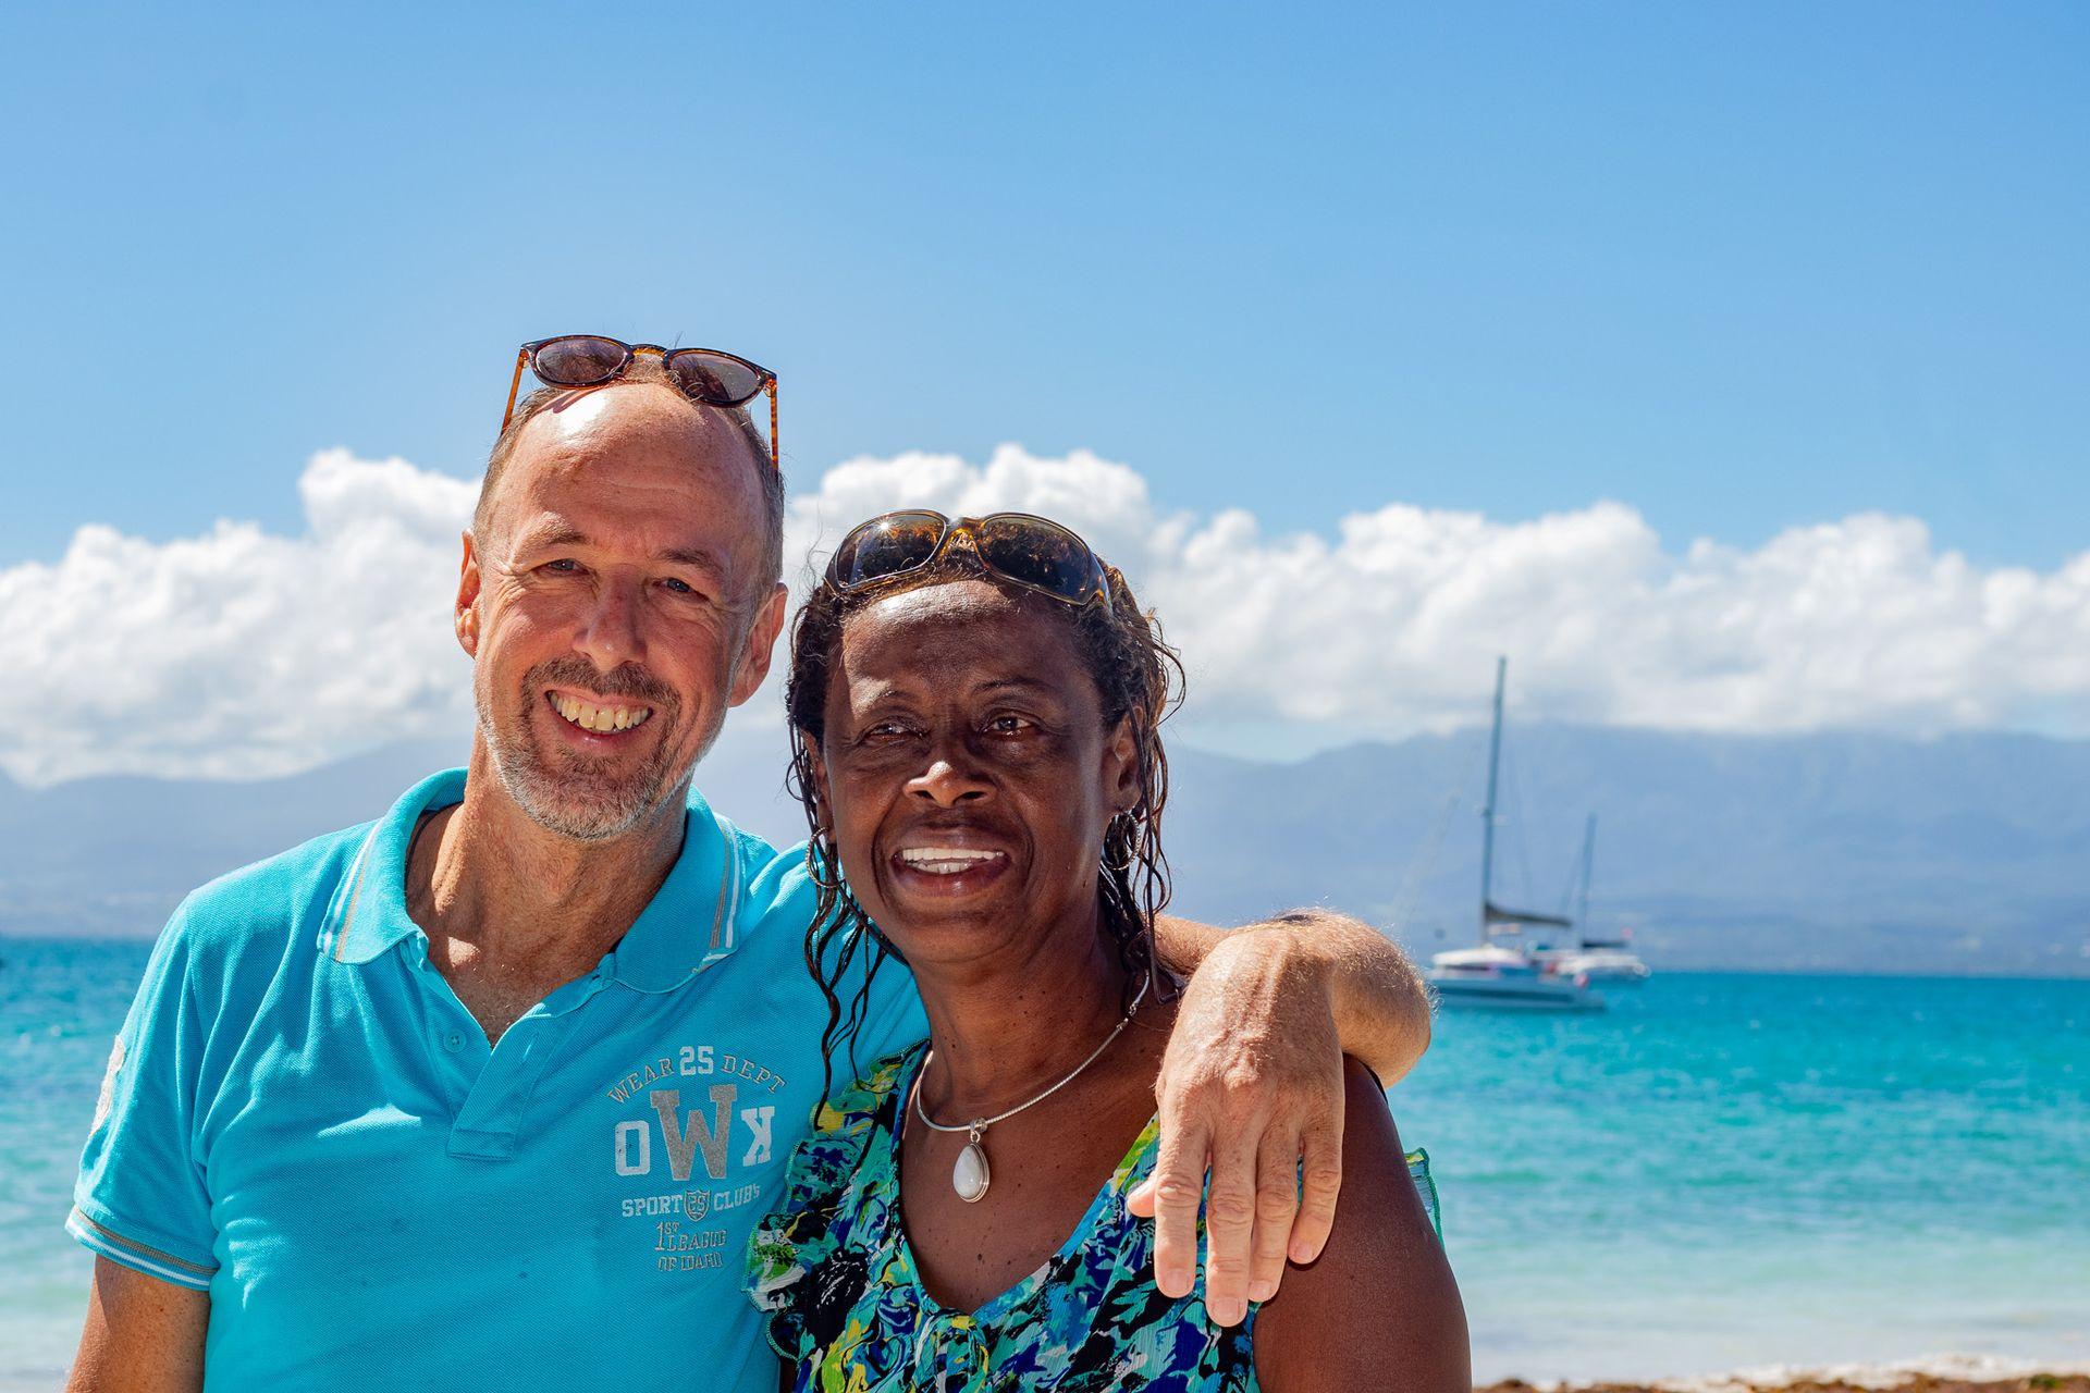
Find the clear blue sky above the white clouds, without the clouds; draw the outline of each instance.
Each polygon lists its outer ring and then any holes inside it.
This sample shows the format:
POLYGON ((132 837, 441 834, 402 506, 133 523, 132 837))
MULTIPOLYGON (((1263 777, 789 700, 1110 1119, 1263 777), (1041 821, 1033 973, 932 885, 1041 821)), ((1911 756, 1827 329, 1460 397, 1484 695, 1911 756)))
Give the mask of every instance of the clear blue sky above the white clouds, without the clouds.
POLYGON ((1091 447, 1329 530, 2090 516, 2082 6, 10 6, 10 505, 466 474, 512 347, 782 372, 798 478, 1091 447))

